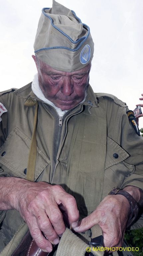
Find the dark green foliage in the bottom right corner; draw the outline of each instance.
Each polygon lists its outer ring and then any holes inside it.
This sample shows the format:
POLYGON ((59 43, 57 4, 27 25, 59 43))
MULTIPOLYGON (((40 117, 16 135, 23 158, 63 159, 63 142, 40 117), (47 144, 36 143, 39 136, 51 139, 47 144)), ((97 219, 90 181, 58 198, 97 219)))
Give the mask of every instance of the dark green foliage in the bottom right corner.
POLYGON ((124 235, 129 247, 138 247, 139 251, 134 251, 134 256, 143 256, 143 228, 128 230, 124 235))

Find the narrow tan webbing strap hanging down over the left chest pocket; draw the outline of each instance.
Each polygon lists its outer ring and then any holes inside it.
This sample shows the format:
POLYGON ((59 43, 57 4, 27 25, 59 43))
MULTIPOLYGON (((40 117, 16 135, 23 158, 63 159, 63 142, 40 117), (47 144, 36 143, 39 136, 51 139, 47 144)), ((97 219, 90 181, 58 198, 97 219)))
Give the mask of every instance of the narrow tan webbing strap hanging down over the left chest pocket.
POLYGON ((34 181, 34 174, 35 174, 35 164, 36 164, 36 155, 37 155, 37 140, 36 140, 37 115, 38 115, 38 101, 36 101, 36 104, 35 104, 33 134, 31 139, 31 146, 29 151, 27 173, 26 173, 26 179, 30 181, 34 181))

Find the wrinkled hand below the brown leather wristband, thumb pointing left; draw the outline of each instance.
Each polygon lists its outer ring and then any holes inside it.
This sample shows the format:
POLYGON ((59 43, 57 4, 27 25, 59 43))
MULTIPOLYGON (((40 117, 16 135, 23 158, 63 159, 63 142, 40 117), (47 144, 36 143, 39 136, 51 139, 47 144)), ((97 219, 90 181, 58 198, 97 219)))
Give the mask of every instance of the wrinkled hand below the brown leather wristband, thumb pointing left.
POLYGON ((129 202, 123 195, 107 195, 74 230, 84 232, 98 224, 102 229, 104 246, 121 247, 129 211, 129 202))

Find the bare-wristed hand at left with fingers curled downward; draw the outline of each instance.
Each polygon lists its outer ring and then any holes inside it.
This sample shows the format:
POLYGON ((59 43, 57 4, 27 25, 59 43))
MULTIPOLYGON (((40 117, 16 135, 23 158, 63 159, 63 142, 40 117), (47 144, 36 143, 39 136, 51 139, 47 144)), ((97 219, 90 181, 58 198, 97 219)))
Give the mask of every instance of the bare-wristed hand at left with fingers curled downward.
POLYGON ((15 181, 15 190, 11 188, 11 203, 7 203, 11 204, 11 207, 5 209, 14 208, 20 212, 33 239, 42 250, 51 252, 52 244, 59 243, 59 236, 66 229, 63 210, 72 228, 78 225, 79 212, 76 201, 60 185, 30 182, 14 177, 1 179, 15 181))

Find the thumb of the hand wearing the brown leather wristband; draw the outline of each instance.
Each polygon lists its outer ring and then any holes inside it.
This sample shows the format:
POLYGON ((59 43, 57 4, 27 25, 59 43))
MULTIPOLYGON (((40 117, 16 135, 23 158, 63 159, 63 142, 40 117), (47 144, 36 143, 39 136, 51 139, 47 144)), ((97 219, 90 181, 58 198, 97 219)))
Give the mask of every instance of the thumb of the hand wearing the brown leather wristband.
POLYGON ((97 223, 98 223, 98 217, 97 216, 95 217, 95 212, 93 211, 89 216, 79 221, 78 227, 75 227, 74 230, 76 232, 83 232, 90 229, 97 223))

